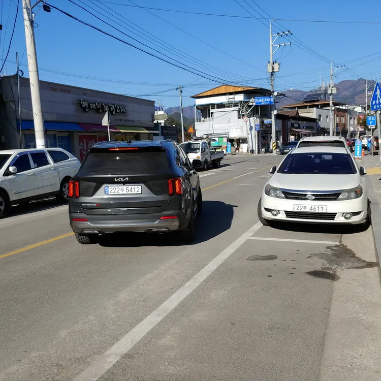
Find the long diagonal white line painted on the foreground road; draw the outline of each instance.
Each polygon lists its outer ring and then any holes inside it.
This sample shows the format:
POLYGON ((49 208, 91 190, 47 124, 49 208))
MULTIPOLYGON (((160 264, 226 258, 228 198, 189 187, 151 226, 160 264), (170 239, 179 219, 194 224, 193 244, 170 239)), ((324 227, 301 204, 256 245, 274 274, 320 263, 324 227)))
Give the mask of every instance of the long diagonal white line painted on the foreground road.
POLYGON ((211 262, 200 270, 192 279, 188 280, 179 290, 170 296, 161 306, 151 312, 141 323, 128 334, 117 341, 108 351, 94 361, 87 369, 73 379, 73 381, 96 381, 110 369, 123 355, 138 343, 156 324, 170 313, 184 298, 201 284, 221 263, 229 258, 250 236, 256 233, 262 224, 258 222, 246 233, 243 233, 224 251, 220 252, 211 262))

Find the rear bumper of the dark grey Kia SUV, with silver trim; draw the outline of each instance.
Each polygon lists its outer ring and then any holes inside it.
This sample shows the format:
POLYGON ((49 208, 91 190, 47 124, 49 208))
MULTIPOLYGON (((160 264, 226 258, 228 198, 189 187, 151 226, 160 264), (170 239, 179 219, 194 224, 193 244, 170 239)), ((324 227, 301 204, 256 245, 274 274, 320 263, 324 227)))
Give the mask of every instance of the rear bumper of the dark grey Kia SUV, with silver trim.
POLYGON ((73 232, 79 234, 165 233, 184 229, 188 224, 188 219, 181 211, 171 210, 154 214, 88 215, 85 213, 70 213, 69 217, 73 232), (168 216, 176 216, 176 218, 165 218, 168 216), (86 220, 74 221, 73 219, 86 220))

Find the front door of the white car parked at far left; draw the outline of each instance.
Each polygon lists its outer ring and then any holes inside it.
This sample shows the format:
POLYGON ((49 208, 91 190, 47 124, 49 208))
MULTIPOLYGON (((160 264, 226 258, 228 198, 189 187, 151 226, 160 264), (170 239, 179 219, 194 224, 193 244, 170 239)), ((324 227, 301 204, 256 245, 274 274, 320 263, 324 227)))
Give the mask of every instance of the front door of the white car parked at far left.
POLYGON ((10 181, 12 195, 11 201, 21 199, 31 199, 38 196, 37 174, 33 168, 28 152, 17 154, 9 167, 16 167, 17 173, 5 172, 6 181, 10 181))

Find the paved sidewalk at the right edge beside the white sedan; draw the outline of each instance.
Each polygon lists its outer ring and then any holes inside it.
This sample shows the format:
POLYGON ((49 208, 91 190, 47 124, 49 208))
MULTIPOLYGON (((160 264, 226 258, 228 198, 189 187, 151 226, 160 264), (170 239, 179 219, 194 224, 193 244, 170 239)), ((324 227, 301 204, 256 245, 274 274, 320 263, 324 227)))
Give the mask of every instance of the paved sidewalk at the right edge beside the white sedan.
POLYGON ((363 156, 358 166, 366 169, 366 184, 372 212, 372 232, 376 253, 378 275, 381 284, 381 169, 380 156, 363 156))

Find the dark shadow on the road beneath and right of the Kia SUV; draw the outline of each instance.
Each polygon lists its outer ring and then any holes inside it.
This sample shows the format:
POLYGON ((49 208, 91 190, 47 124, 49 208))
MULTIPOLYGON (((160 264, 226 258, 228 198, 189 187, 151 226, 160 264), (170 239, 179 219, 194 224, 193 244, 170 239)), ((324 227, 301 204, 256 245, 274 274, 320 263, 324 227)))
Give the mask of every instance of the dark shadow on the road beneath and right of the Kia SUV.
MULTIPOLYGON (((236 205, 220 201, 204 201, 202 215, 196 218, 196 239, 192 243, 208 241, 232 225, 236 205)), ((104 247, 183 246, 176 233, 115 233, 101 237, 104 247)))

